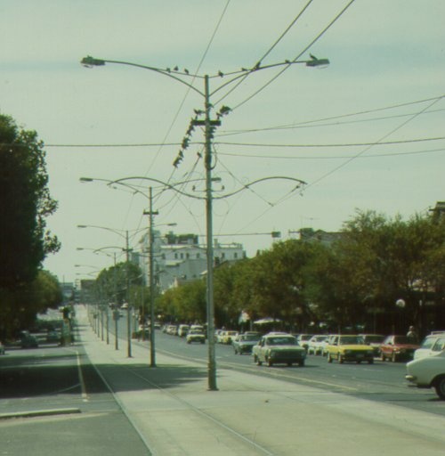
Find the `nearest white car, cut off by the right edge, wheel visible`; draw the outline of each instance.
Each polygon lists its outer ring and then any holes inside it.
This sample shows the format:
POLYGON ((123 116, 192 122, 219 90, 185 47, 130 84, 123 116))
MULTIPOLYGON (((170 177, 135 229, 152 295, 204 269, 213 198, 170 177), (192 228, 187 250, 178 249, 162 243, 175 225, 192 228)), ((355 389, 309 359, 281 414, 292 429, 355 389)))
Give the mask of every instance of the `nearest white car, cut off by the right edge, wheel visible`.
POLYGON ((434 388, 445 400, 445 350, 407 363, 405 379, 419 388, 434 388))

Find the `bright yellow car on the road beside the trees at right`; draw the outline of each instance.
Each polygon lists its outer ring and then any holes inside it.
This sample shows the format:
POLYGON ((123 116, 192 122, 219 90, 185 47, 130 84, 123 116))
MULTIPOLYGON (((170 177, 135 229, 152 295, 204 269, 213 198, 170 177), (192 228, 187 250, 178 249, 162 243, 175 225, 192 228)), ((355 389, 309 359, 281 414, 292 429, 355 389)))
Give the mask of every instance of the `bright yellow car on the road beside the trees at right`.
POLYGON ((328 362, 337 360, 340 364, 344 362, 365 361, 368 364, 374 362, 374 351, 371 346, 365 344, 363 338, 355 335, 337 335, 330 339, 326 347, 328 362))

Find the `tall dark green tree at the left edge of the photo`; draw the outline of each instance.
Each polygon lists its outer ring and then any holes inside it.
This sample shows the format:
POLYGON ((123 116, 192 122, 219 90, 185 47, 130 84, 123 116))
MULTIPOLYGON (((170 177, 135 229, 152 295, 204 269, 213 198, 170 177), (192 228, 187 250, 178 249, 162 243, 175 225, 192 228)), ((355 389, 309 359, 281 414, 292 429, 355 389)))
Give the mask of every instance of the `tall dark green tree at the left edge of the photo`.
POLYGON ((60 248, 46 229, 57 202, 48 190, 44 159, 36 132, 0 115, 0 315, 7 335, 58 300, 57 281, 42 271, 45 256, 60 248))

